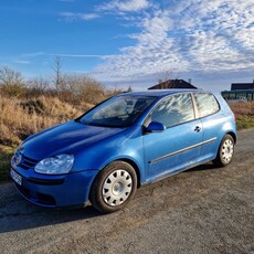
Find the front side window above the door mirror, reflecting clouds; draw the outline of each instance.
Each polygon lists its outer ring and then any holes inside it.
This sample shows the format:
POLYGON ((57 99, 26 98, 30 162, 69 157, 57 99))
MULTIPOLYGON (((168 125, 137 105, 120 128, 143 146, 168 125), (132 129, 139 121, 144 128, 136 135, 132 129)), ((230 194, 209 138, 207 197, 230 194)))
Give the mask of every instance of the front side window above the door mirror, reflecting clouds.
POLYGON ((194 109, 190 94, 171 95, 151 114, 151 121, 159 121, 167 128, 194 119, 194 109))

